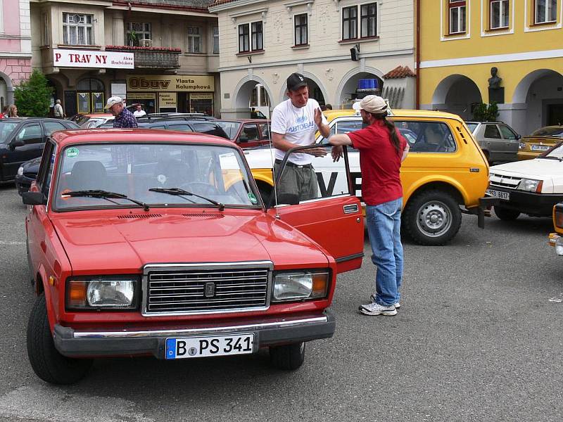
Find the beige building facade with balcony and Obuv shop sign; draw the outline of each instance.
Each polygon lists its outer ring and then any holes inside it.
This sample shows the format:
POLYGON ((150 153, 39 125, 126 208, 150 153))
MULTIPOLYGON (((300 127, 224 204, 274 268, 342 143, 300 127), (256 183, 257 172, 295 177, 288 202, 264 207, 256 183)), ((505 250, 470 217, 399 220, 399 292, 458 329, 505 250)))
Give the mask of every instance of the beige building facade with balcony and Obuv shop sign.
MULTIPOLYGON (((6 0, 4 0, 6 1, 6 0)), ((32 66, 67 115, 109 96, 148 113, 220 108, 217 17, 207 0, 32 1, 32 66)))

